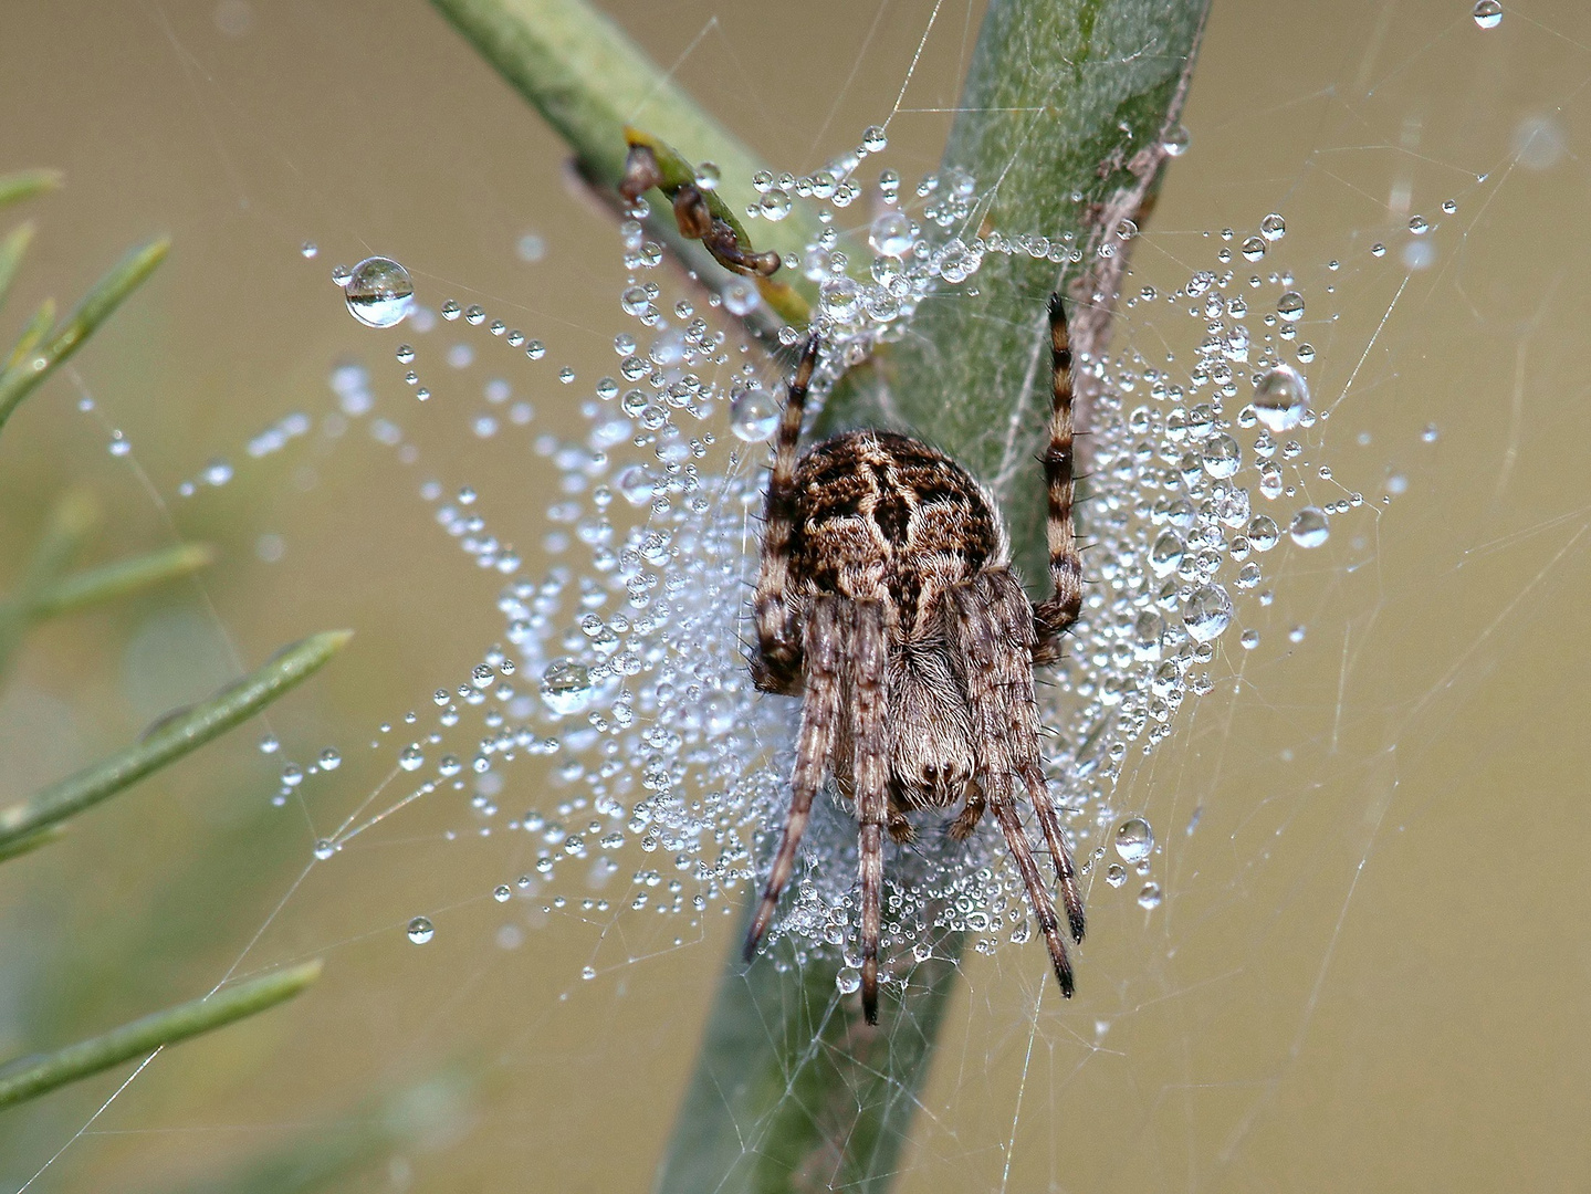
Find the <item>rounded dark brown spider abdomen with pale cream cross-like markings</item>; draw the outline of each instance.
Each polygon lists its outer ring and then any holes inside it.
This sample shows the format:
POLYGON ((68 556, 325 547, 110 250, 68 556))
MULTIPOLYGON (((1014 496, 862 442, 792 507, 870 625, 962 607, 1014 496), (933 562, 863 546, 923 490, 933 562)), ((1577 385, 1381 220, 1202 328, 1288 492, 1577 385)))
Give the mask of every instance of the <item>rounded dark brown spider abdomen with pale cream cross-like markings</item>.
POLYGON ((945 453, 889 431, 850 431, 796 467, 791 568, 818 593, 894 606, 894 633, 931 633, 939 598, 1006 564, 988 491, 945 453))

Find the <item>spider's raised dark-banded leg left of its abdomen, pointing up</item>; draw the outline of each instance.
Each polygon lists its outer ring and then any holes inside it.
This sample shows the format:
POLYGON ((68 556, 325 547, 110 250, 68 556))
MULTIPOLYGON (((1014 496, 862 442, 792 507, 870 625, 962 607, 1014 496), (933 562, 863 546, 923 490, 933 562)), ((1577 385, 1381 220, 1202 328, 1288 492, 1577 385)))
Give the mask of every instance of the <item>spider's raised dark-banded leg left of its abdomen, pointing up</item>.
POLYGON ((768 496, 762 504, 762 566, 753 598, 759 649, 754 668, 759 687, 770 692, 792 692, 800 677, 797 611, 791 606, 788 587, 799 501, 796 464, 800 459, 800 424, 807 409, 807 386, 811 385, 816 364, 818 334, 813 332, 807 337, 807 348, 791 377, 773 448, 773 475, 768 477, 768 496))

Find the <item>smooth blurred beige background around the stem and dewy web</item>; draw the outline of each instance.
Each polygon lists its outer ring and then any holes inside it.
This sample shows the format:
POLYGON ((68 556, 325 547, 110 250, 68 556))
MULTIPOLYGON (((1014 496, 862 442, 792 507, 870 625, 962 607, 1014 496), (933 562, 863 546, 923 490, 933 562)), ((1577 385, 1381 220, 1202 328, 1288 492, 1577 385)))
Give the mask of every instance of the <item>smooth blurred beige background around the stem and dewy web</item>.
MULTIPOLYGON (((883 162, 910 184, 937 159, 982 6, 609 11, 796 173, 891 111, 923 41, 883 162)), ((334 1148, 442 1073, 457 1086, 339 1188, 648 1188, 727 924, 501 906, 492 887, 528 855, 445 841, 469 827, 457 798, 310 866, 317 832, 390 763, 380 723, 430 714, 503 634, 500 577, 434 526, 420 480, 474 485, 531 574, 554 501, 528 434, 469 432, 479 399, 412 402, 391 359, 409 332, 358 328, 329 270, 382 251, 423 302, 482 302, 544 339, 541 372, 504 375, 536 405, 530 432, 573 436, 585 388, 552 370, 597 377, 627 329, 611 226, 423 3, 13 3, 5 25, 0 169, 67 175, 29 205, 41 234, 10 321, 151 232, 175 248, 78 358, 95 412, 59 377, 0 439, 0 577, 72 485, 105 509, 92 558, 181 537, 220 561, 35 634, 0 695, 0 795, 310 630, 358 638, 272 712, 283 754, 261 755, 251 725, 0 873, 0 1054, 188 998, 250 946, 245 971, 328 962, 312 994, 170 1051, 97 1118, 119 1075, 6 1113, 0 1188, 170 1189, 334 1148), (334 407, 350 358, 422 461, 361 429, 251 461, 251 436, 334 407), (177 498, 216 456, 235 479, 177 498), (310 816, 270 808, 280 760, 325 746, 347 762, 310 816), (438 933, 415 948, 420 913, 438 933)), ((1510 3, 1489 32, 1468 0, 1217 0, 1192 148, 1138 281, 1174 289, 1216 267, 1223 227, 1282 211, 1255 269, 1290 269, 1308 300, 1332 410, 1309 459, 1370 506, 1327 547, 1270 556, 1274 603, 1239 612, 1260 645, 1223 639, 1217 690, 1128 773, 1118 803, 1155 825, 1160 908, 1138 884, 1093 886, 1064 1008, 1031 951, 967 960, 901 1189, 1585 1188, 1588 83, 1591 13, 1570 0, 1510 3), (1438 227, 1408 250, 1416 213, 1438 227), (1405 253, 1427 258, 1410 270, 1405 253)), ((1166 310, 1134 312, 1118 343, 1185 366, 1200 329, 1166 310)), ((426 343, 460 339, 501 350, 461 326, 426 343)), ((504 806, 543 798, 533 765, 506 779, 504 806)))

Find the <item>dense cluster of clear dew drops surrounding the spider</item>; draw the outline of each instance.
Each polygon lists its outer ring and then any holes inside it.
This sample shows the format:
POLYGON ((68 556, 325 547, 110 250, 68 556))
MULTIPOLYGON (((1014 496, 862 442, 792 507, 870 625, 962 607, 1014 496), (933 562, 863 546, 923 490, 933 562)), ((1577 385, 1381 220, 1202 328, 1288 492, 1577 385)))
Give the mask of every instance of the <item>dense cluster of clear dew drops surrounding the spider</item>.
MULTIPOLYGON (((1177 154, 1185 145, 1179 137, 1166 148, 1177 154)), ((753 180, 759 199, 746 216, 754 242, 757 221, 781 221, 796 204, 816 210, 818 238, 784 267, 821 294, 816 324, 827 348, 818 396, 845 364, 902 334, 926 296, 969 285, 988 254, 1056 264, 1083 256, 1069 235, 967 237, 980 192, 963 172, 929 175, 905 192, 894 170, 864 183, 862 164, 885 148, 883 130, 869 129, 854 151, 823 170, 753 180)), ((716 167, 703 164, 697 181, 714 188, 716 167)), ((581 397, 584 439, 535 440, 535 452, 557 471, 541 542, 554 561, 546 574, 522 576, 519 553, 492 533, 476 490, 457 487, 447 496, 441 482, 422 485, 444 533, 477 566, 508 577, 498 598, 504 630, 463 682, 436 690, 436 728, 398 754, 398 771, 414 774, 418 787, 383 808, 458 792, 471 806, 465 832, 528 835, 535 860, 495 887, 498 901, 517 895, 552 911, 571 906, 571 897, 557 892, 582 889, 574 900, 587 913, 655 911, 698 925, 710 911, 727 914, 745 898, 786 816, 797 703, 753 690, 745 593, 757 564, 760 466, 788 361, 770 361, 724 318, 768 316, 743 280, 705 299, 684 288, 665 297, 673 283, 660 270, 663 250, 646 237, 643 210, 628 215, 619 238, 630 277, 619 307, 632 326, 614 335, 613 374, 589 383, 581 397), (725 423, 730 436, 721 442, 725 423), (450 749, 469 733, 479 733, 473 749, 450 749), (519 757, 547 760, 557 790, 514 816, 500 798, 504 768, 519 757), (641 865, 622 887, 614 876, 620 854, 633 857, 632 844, 641 865)), ((1126 221, 1095 251, 1122 251, 1134 235, 1126 221)), ((1223 231, 1212 269, 1193 272, 1171 294, 1144 288, 1120 296, 1126 321, 1134 308, 1163 302, 1204 326, 1190 367, 1136 351, 1080 362, 1096 375, 1099 393, 1088 415, 1093 501, 1079 514, 1082 536, 1099 544, 1090 553, 1098 583, 1058 682, 1042 690, 1045 722, 1056 731, 1045 739, 1045 765, 1082 870, 1099 866, 1111 887, 1123 887, 1136 871, 1146 909, 1161 901, 1150 878, 1158 847, 1144 817, 1114 804, 1123 763, 1134 747, 1152 752, 1171 735, 1179 707, 1214 688, 1217 641, 1241 626, 1241 603, 1251 593, 1271 601, 1268 590, 1258 591, 1266 553, 1284 542, 1321 547, 1332 520, 1363 504, 1328 466, 1306 477, 1306 448, 1292 437, 1327 417, 1311 407, 1298 367, 1316 359, 1316 350, 1298 342, 1303 294, 1290 273, 1273 273, 1268 283, 1281 293, 1262 302, 1266 280, 1241 278, 1241 266, 1233 266, 1235 256, 1260 262, 1284 235, 1274 213, 1254 235, 1223 231), (1297 499, 1314 479, 1340 496, 1319 506, 1292 501, 1278 517, 1257 509, 1297 499)), ((407 272, 390 259, 337 269, 334 281, 361 323, 390 328, 423 312, 407 272)), ((541 340, 490 320, 479 305, 445 300, 439 312, 444 323, 484 328, 530 361, 547 355, 541 340)), ((800 337, 799 329, 778 329, 783 345, 800 337)), ((430 399, 422 355, 404 343, 396 356, 414 396, 430 399)), ((557 380, 573 388, 579 378, 563 367, 557 380)), ((488 383, 487 399, 506 401, 508 391, 506 382, 488 383)), ((530 421, 528 404, 512 409, 525 413, 511 421, 530 421)), ((479 417, 473 426, 484 434, 479 417)), ((1241 631, 1239 644, 1254 649, 1257 633, 1241 631)), ((404 720, 418 727, 422 719, 410 712, 404 720)), ((323 762, 323 770, 336 766, 323 762)), ((285 771, 283 790, 299 777, 285 771)), ((536 790, 544 785, 538 774, 536 790)), ((317 855, 329 859, 360 828, 350 822, 321 841, 317 855)), ((966 930, 983 952, 1029 938, 1023 887, 986 825, 953 847, 943 835, 923 833, 912 846, 889 849, 885 981, 904 981, 912 960, 929 956, 936 928, 966 930)), ((797 962, 805 951, 840 949, 842 989, 859 981, 859 959, 851 956, 854 874, 854 822, 837 801, 821 800, 770 940, 794 938, 797 962)), ((433 933, 423 916, 409 925, 415 943, 433 933)))

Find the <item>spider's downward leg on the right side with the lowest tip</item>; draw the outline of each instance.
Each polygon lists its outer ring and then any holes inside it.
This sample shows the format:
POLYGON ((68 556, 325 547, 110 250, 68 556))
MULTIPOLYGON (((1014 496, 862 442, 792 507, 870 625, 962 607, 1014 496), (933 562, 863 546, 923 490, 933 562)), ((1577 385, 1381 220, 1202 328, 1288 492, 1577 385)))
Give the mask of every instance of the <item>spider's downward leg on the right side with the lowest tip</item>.
MULTIPOLYGON (((1029 663, 1033 623, 1026 617, 1012 617, 1021 609, 1013 603, 1021 598, 1021 587, 1007 569, 985 572, 977 580, 956 585, 948 595, 956 607, 956 653, 961 658, 972 723, 985 752, 978 760, 982 785, 1028 889, 1028 903, 1050 949, 1061 994, 1071 998, 1072 965, 1061 940, 1060 917, 1033 859, 1033 846, 1021 827, 1013 795, 1015 779, 1026 762, 1017 750, 1021 755, 1031 752, 1034 760, 1037 757, 1037 709, 1029 663), (1025 703, 1031 711, 1026 717, 1025 703)), ((1041 782, 1042 777, 1041 771, 1041 782)), ((1080 905, 1077 914, 1082 916, 1080 905)))

